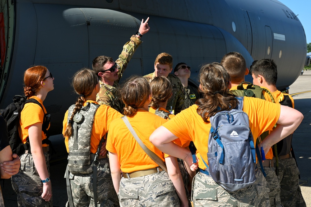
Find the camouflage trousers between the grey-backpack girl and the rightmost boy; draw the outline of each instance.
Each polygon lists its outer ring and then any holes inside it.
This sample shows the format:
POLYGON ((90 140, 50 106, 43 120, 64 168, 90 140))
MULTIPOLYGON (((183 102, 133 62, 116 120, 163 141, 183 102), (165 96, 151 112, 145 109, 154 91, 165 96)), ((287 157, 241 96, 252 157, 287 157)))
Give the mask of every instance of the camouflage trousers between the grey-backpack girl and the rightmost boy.
MULTIPOLYGON (((260 170, 260 167, 258 167, 260 170)), ((277 179, 277 176, 275 174, 275 168, 274 167, 263 167, 265 170, 265 173, 267 176, 265 177, 267 180, 267 184, 269 187, 270 192, 269 200, 270 200, 270 206, 271 207, 282 207, 281 205, 281 199, 280 199, 280 182, 277 179)), ((261 171, 261 170, 260 170, 261 171)))

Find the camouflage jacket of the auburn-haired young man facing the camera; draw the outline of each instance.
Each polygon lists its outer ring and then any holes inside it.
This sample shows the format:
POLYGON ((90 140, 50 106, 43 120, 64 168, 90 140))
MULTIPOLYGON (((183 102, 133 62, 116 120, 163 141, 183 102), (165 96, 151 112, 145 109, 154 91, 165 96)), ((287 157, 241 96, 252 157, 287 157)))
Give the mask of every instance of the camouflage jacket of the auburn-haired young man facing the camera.
MULTIPOLYGON (((144 78, 147 79, 149 83, 155 77, 156 77, 155 72, 144 76, 144 78)), ((172 107, 172 109, 174 110, 174 114, 178 114, 181 110, 183 110, 183 106, 185 103, 185 93, 183 89, 183 84, 181 84, 180 79, 173 74, 169 74, 167 78, 173 85, 173 95, 167 101, 166 110, 170 110, 172 107)))

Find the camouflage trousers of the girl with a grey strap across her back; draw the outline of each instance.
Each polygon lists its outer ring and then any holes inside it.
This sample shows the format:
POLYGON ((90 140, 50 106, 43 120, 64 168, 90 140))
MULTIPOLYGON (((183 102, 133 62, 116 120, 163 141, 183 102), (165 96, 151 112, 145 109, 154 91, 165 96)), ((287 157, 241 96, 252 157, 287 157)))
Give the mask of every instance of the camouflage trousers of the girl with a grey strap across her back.
POLYGON ((165 171, 138 178, 121 178, 118 196, 123 207, 180 206, 173 182, 165 171))

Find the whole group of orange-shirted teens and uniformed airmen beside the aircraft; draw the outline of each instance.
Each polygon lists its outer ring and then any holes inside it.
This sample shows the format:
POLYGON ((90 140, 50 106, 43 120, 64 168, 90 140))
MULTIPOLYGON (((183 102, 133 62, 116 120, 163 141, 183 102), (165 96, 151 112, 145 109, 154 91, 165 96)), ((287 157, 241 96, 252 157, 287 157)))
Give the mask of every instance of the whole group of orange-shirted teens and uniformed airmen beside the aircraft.
MULTIPOLYGON (((261 143, 268 160, 264 163, 270 163, 265 169, 269 176, 265 178, 256 170, 252 185, 229 192, 203 172, 208 164, 210 117, 239 104, 229 90, 248 74, 245 60, 234 52, 226 54, 221 64, 202 65, 200 85, 194 89, 188 82, 191 67, 178 63, 171 74, 173 58, 161 53, 156 57, 154 73, 132 76, 119 86, 140 38, 150 29, 148 20, 142 20, 116 61, 96 57, 93 70, 82 68, 73 76, 78 98, 63 121, 69 153, 67 206, 191 206, 191 202, 194 206, 305 206, 298 185, 299 171, 288 146, 291 139, 285 139, 289 149, 280 154, 281 173, 277 176, 273 168, 271 147, 290 136, 303 119, 293 109, 292 98, 292 107, 279 104, 288 95, 276 89, 274 62, 254 62, 251 73, 255 84, 275 95, 275 103, 254 97, 244 97, 243 101, 255 142, 269 131, 261 143), (271 74, 275 76, 272 81, 271 74), (197 163, 193 162, 190 142, 197 149, 197 163), (289 175, 289 169, 297 173, 289 175), (291 183, 290 176, 295 178, 291 183)), ((30 143, 31 151, 20 158, 12 152, 3 157, 2 152, 10 150, 7 142, 0 142, 1 178, 12 175, 18 206, 53 206, 49 146, 43 142, 46 135, 42 130, 49 128, 43 101, 54 88, 53 80, 44 66, 31 67, 24 74, 25 95, 41 105, 26 103, 21 112, 20 137, 30 143)))

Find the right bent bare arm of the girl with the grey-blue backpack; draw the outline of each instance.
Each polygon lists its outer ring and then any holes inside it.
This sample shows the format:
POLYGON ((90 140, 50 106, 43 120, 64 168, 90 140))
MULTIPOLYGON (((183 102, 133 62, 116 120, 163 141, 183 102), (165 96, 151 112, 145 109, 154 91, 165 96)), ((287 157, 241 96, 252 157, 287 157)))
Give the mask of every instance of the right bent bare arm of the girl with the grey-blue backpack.
POLYGON ((281 105, 280 117, 276 122, 276 128, 262 141, 265 153, 269 151, 272 145, 293 133, 303 118, 304 115, 299 111, 281 105))

